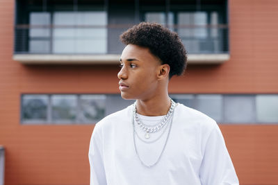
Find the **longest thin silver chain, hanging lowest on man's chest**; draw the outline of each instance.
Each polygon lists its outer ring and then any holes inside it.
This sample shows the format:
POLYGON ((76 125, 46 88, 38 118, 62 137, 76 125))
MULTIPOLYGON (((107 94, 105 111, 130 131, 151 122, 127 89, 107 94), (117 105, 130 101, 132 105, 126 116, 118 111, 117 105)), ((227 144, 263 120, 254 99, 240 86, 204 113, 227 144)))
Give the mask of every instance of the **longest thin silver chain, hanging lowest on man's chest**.
MULTIPOLYGON (((173 102, 174 102, 174 101, 173 101, 173 102)), ((133 104, 133 109, 134 109, 135 106, 136 106, 136 105, 133 104)), ((166 146, 167 141, 168 141, 168 139, 169 139, 169 135, 170 135, 171 127, 172 127, 172 122, 173 122, 173 117, 174 117, 174 109, 173 109, 172 112, 173 112, 173 114, 172 114, 172 118, 171 118, 171 121, 170 121, 170 127, 169 127, 169 130, 168 130, 168 134, 167 134, 166 141, 165 141, 164 146, 163 146, 163 148, 162 148, 162 150, 161 150, 161 154, 159 155, 158 159, 157 159, 153 164, 151 164, 151 165, 145 164, 145 162, 142 161, 142 159, 140 158, 140 156, 139 156, 139 154, 138 154, 138 150, 137 150, 137 146, 136 146, 136 141, 135 141, 135 134, 136 134, 136 132, 135 132, 135 124, 134 124, 134 114, 132 115, 133 144, 134 144, 134 148, 135 148, 136 155, 137 155, 139 161, 141 162, 141 164, 142 164, 143 166, 146 166, 147 168, 152 168, 153 166, 155 166, 156 164, 158 164, 158 162, 159 162, 160 159, 161 159, 161 156, 162 156, 162 154, 163 154, 163 152, 164 152, 164 150, 165 150, 165 146, 166 146)))

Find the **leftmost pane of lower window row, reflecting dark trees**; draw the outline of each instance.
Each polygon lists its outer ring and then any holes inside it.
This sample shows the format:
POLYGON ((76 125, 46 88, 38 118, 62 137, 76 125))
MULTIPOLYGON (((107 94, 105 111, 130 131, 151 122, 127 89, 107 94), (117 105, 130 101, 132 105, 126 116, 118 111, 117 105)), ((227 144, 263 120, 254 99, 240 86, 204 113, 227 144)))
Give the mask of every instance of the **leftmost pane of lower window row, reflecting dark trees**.
POLYGON ((22 96, 22 122, 47 121, 47 95, 22 96))

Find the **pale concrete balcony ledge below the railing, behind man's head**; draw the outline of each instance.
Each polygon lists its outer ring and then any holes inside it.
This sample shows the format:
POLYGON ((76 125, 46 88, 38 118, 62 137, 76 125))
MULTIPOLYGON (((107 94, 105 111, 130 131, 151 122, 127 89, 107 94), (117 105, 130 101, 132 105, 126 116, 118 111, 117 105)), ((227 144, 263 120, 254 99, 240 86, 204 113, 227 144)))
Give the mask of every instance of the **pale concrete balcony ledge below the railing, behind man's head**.
MULTIPOLYGON (((191 54, 188 64, 221 64, 229 58, 229 54, 191 54)), ((14 54, 13 60, 22 64, 117 64, 120 55, 14 54)))

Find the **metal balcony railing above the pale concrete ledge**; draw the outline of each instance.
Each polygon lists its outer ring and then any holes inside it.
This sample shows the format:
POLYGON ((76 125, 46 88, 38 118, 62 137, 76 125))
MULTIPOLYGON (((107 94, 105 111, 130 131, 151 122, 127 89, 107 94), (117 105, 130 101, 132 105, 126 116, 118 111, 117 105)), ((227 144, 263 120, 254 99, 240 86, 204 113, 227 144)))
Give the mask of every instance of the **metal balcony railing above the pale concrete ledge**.
MULTIPOLYGON (((120 54, 119 35, 132 25, 16 25, 15 54, 120 54)), ((188 53, 229 53, 229 29, 218 25, 167 25, 188 53)))

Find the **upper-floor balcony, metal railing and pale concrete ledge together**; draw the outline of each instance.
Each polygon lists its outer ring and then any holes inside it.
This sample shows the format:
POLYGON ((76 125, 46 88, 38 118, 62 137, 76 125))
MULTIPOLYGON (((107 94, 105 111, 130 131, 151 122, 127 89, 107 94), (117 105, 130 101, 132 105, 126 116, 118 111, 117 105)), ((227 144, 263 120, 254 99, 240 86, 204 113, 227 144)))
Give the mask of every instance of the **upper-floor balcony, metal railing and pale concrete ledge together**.
MULTIPOLYGON (((113 64, 124 45, 119 35, 132 25, 17 25, 13 59, 22 64, 113 64)), ((170 25, 188 51, 189 64, 229 60, 226 25, 170 25)))

